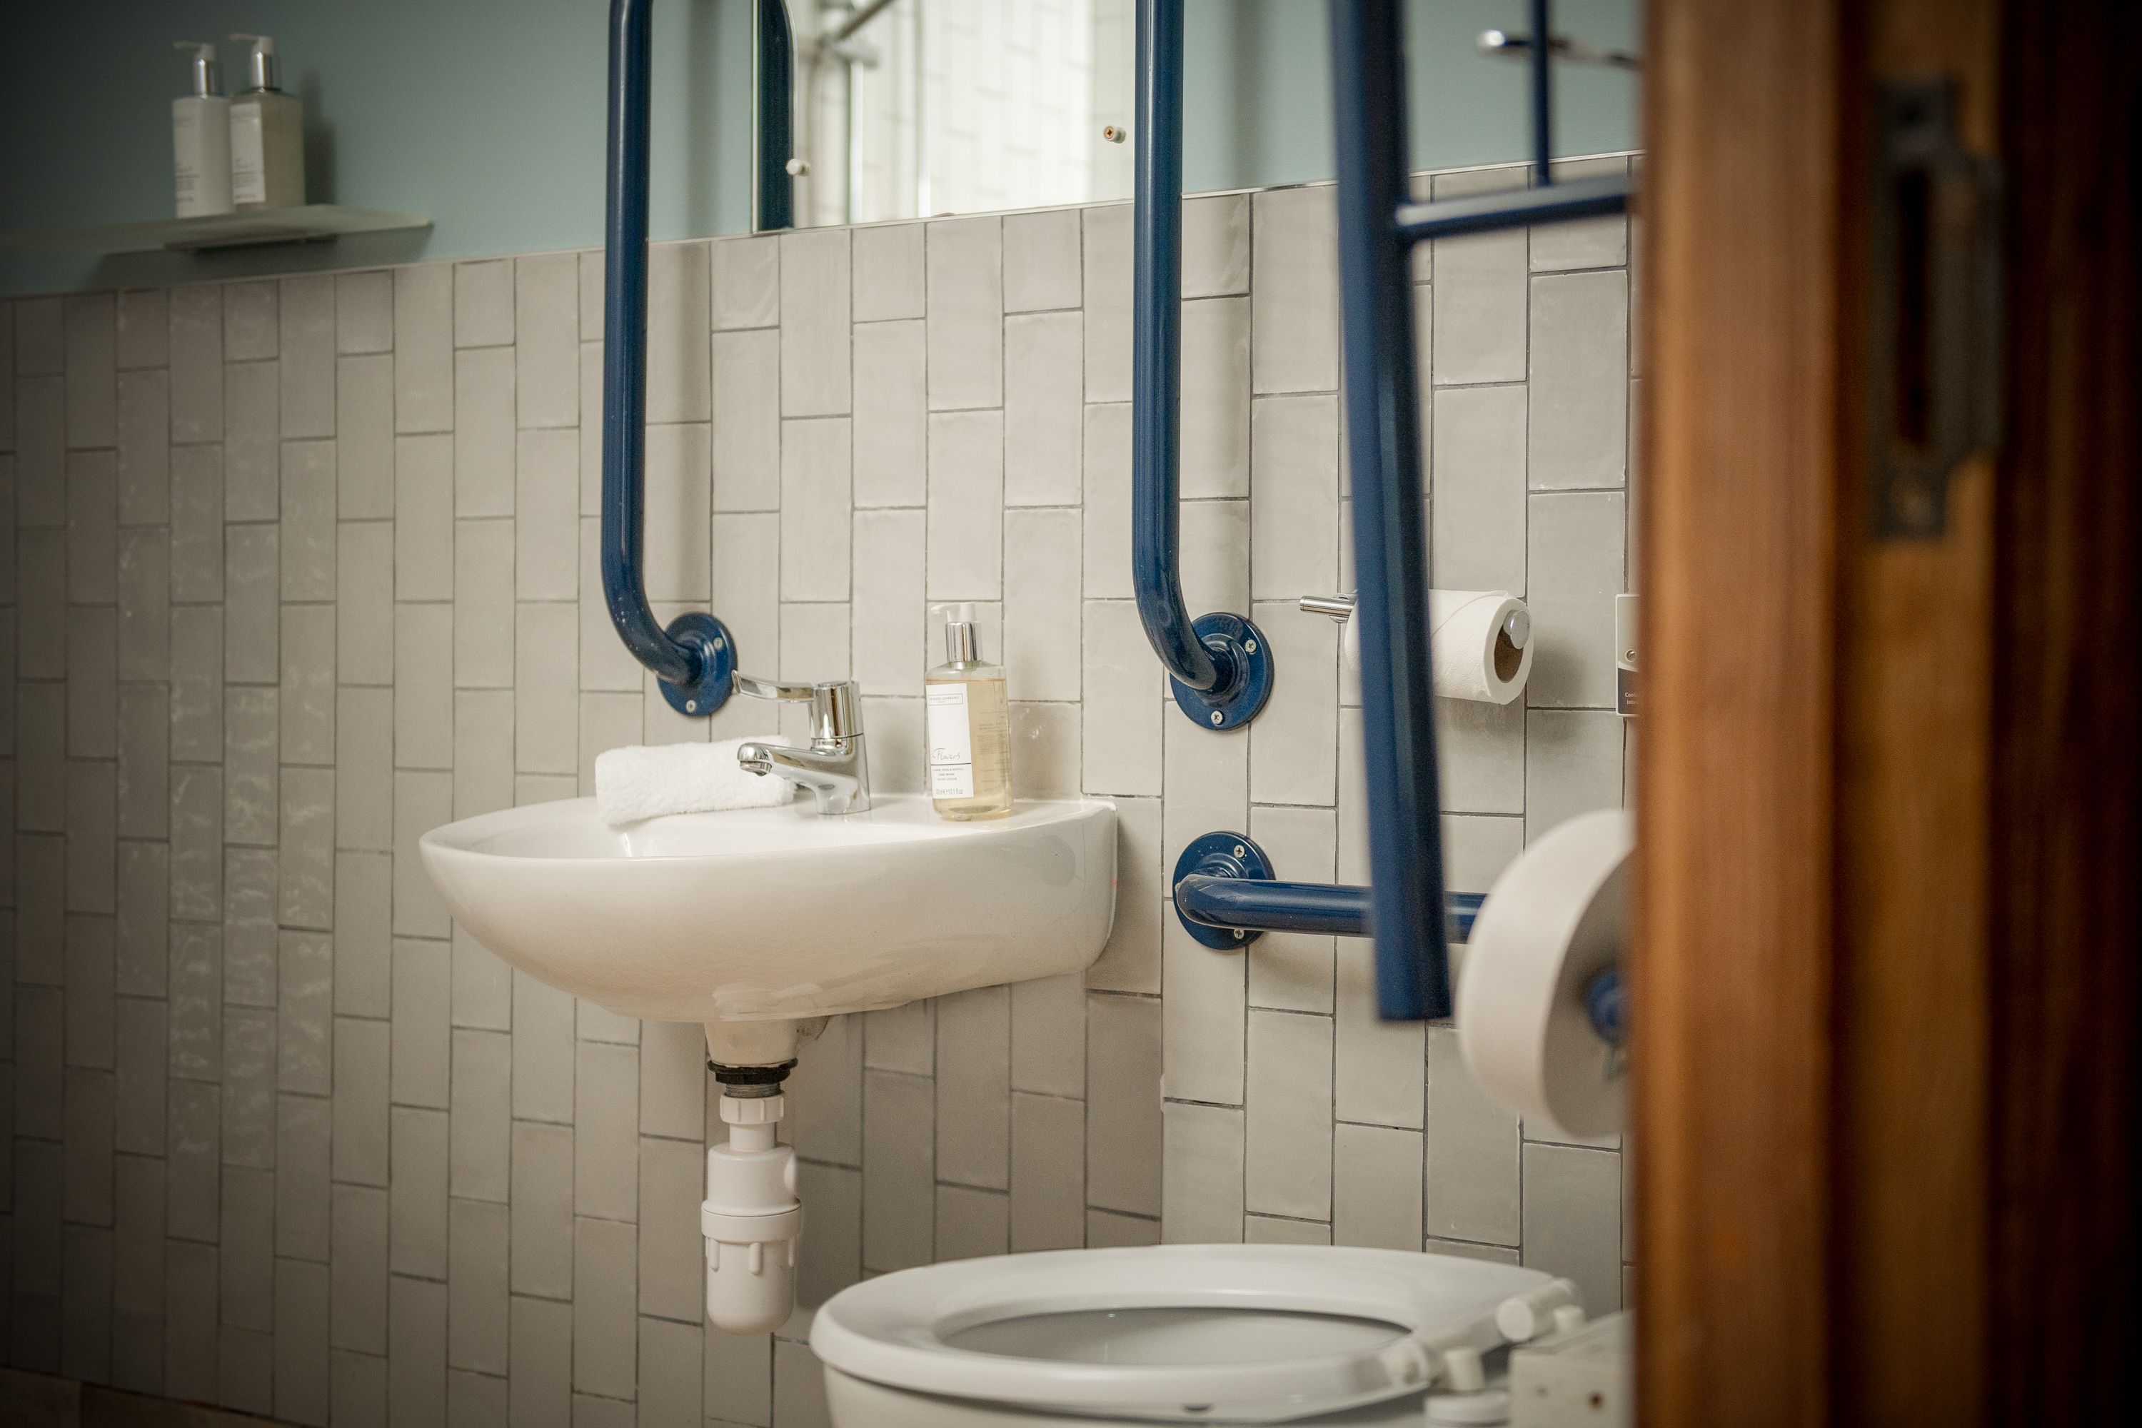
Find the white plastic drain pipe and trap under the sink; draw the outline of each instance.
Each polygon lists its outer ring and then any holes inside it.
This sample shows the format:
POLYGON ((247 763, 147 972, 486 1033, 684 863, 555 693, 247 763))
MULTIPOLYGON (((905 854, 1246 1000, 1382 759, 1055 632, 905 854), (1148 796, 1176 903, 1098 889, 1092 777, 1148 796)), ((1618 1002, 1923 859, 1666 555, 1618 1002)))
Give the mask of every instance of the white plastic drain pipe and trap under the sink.
POLYGON ((707 1199, 698 1233, 707 1240, 707 1319, 730 1334, 767 1334, 797 1302, 797 1152, 778 1143, 786 1100, 780 1066, 720 1066, 722 1124, 728 1139, 707 1148, 707 1199))

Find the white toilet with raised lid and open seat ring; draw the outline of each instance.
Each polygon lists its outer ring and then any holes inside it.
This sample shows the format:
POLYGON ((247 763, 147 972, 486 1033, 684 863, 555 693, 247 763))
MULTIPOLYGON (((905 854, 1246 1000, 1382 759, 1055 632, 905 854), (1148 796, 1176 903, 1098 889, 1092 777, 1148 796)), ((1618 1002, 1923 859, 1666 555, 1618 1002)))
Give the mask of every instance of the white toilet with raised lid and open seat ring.
POLYGON ((962 1259, 825 1302, 833 1428, 1502 1424, 1568 1280, 1450 1255, 1172 1244, 962 1259))

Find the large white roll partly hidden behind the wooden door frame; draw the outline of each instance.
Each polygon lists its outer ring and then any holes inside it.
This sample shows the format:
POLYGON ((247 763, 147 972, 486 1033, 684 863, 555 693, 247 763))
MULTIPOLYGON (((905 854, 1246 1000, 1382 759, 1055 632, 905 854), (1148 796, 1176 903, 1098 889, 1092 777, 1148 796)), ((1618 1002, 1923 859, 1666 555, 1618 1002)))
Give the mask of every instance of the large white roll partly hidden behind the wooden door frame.
POLYGON ((1628 814, 1581 814, 1495 880, 1465 946, 1459 1049, 1474 1079, 1564 1135, 1621 1128, 1621 1053, 1592 1030, 1585 987, 1621 959, 1628 814))

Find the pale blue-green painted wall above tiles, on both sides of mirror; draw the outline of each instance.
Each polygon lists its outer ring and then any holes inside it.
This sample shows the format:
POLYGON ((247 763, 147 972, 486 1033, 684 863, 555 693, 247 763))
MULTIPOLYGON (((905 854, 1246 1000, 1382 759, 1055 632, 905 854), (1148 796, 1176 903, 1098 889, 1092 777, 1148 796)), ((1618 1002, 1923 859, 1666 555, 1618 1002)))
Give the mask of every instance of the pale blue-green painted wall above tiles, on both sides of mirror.
MULTIPOLYGON (((795 2, 795 0, 790 0, 795 2)), ((1412 0, 1416 167, 1525 154, 1523 69, 1482 60, 1521 0, 1412 0)), ((1562 0, 1564 30, 1634 43, 1636 0, 1562 0)), ((306 103, 315 199, 431 216, 428 233, 225 255, 0 248, 0 293, 583 248, 602 242, 604 0, 71 0, 0 24, 0 233, 171 210, 174 39, 268 30, 306 103)), ((655 238, 750 223, 752 0, 655 0, 655 238)), ((1328 178, 1317 0, 1189 0, 1185 182, 1328 178)), ((225 79, 238 71, 225 47, 225 79)), ((1564 66, 1557 152, 1634 148, 1634 83, 1564 66)))

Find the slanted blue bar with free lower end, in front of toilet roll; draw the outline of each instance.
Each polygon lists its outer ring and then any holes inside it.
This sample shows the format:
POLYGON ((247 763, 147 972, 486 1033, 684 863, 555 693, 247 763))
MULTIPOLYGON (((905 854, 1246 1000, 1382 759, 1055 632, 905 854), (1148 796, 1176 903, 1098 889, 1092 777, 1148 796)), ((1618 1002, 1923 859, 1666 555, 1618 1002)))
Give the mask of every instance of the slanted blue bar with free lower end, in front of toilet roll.
POLYGON ((1375 1000, 1386 1019, 1450 1015, 1444 844, 1429 677, 1429 529, 1420 492, 1401 0, 1332 0, 1339 302, 1375 1000))

